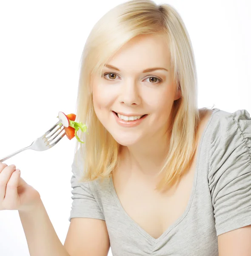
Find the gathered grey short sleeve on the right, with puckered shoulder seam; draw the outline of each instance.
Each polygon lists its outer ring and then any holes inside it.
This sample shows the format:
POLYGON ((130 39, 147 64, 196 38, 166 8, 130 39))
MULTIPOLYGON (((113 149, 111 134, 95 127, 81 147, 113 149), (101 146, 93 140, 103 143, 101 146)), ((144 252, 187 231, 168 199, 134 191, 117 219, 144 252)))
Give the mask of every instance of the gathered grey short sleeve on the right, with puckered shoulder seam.
POLYGON ((208 185, 219 236, 251 224, 251 118, 246 110, 214 118, 208 185))

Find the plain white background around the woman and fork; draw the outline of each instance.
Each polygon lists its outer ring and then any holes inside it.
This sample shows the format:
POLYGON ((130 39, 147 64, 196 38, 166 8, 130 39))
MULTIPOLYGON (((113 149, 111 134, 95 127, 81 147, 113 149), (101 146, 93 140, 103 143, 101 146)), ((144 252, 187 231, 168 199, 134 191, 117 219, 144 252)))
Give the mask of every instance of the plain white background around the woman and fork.
MULTIPOLYGON (((123 2, 0 1, 0 159, 29 146, 57 122, 59 111, 74 113, 86 38, 101 16, 123 2)), ((174 6, 188 29, 199 108, 251 113, 250 1, 155 2, 174 6)), ((27 150, 5 161, 39 191, 62 244, 70 224, 74 146, 75 138, 65 136, 50 150, 27 150)), ((29 255, 17 211, 0 212, 0 255, 29 255)))

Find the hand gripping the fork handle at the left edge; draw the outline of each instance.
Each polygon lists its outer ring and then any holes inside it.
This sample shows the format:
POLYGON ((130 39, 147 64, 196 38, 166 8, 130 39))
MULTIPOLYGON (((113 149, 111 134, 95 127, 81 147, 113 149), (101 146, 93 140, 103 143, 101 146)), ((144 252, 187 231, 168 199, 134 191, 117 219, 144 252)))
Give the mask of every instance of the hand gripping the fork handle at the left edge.
POLYGON ((0 163, 0 210, 29 211, 40 202, 40 194, 26 183, 14 165, 0 163))

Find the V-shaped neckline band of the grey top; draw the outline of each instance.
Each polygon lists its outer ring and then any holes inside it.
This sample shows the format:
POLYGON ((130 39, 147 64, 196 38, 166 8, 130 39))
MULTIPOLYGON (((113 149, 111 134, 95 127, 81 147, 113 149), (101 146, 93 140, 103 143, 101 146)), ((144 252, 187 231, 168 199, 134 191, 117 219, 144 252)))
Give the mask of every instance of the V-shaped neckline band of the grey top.
POLYGON ((134 221, 129 215, 128 213, 125 211, 125 209, 123 208, 122 204, 120 203, 120 199, 117 195, 117 192, 115 190, 114 187, 114 183, 113 183, 113 179, 112 179, 112 175, 109 178, 109 186, 110 186, 110 190, 111 193, 117 203, 117 207, 120 209, 120 211, 122 212, 122 214, 125 216, 125 218, 127 218, 128 223, 131 224, 138 232, 140 232, 143 236, 145 236, 146 239, 148 239, 152 245, 157 244, 159 241, 161 241, 162 239, 164 239, 165 236, 168 235, 168 233, 174 228, 176 227, 178 224, 180 224, 181 221, 183 221, 183 219, 185 218, 185 216, 188 214, 189 209, 191 208, 191 204, 193 202, 193 198, 195 195, 195 190, 196 190, 196 185, 197 185, 197 176, 198 176, 198 167, 199 167, 199 160, 200 160, 200 151, 201 151, 201 147, 202 147, 202 142, 203 142, 203 138, 205 135, 205 132, 211 122, 211 119, 214 116, 214 113, 216 113, 217 111, 219 111, 219 108, 214 108, 214 111, 211 113, 210 118, 208 119, 207 124, 205 125, 204 131, 201 135, 200 138, 200 143, 199 143, 199 148, 198 148, 198 154, 196 156, 196 165, 195 165, 195 173, 194 173, 194 180, 193 180, 193 186, 192 186, 192 190, 191 190, 191 194, 189 197, 189 201, 188 204, 185 208, 185 211, 183 212, 183 214, 177 218, 176 221, 174 221, 157 239, 155 239, 153 236, 151 236, 149 233, 147 233, 142 227, 140 227, 139 224, 137 224, 136 221, 134 221))

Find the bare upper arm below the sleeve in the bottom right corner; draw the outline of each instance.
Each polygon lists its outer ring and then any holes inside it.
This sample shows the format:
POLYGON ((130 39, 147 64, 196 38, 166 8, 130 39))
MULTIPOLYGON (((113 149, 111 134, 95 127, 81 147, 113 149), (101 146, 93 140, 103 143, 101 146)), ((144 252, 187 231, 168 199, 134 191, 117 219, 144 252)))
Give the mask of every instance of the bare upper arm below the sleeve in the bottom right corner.
POLYGON ((251 225, 218 236, 219 256, 251 256, 251 225))

